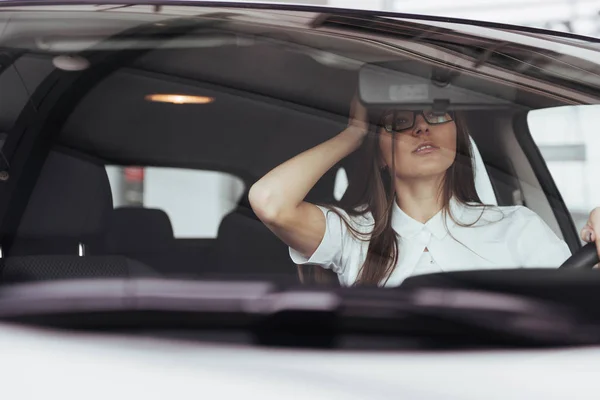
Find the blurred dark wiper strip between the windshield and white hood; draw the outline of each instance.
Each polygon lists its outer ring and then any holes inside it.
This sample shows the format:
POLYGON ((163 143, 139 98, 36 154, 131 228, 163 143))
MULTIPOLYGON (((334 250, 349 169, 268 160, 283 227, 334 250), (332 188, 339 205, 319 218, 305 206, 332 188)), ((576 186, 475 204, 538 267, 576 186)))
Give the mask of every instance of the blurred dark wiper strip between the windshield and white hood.
POLYGON ((67 329, 237 330, 264 345, 336 347, 344 337, 437 346, 600 343, 572 308, 464 288, 277 288, 267 282, 94 280, 0 288, 0 320, 67 329))

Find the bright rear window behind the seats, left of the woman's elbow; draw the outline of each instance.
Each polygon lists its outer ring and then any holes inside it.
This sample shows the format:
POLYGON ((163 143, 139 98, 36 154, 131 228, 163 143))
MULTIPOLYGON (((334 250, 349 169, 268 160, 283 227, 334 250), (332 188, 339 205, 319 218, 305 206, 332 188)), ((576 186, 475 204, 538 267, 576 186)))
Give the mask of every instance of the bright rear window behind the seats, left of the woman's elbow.
POLYGON ((217 237, 223 217, 244 193, 241 179, 223 172, 107 166, 114 206, 158 208, 176 238, 217 237))

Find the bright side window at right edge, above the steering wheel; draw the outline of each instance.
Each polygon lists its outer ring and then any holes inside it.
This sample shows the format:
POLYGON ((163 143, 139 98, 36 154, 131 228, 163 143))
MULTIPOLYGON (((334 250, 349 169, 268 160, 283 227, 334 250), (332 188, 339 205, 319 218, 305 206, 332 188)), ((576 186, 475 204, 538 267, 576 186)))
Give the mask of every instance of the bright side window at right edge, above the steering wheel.
POLYGON ((600 186, 594 183, 600 172, 598 112, 598 106, 567 106, 531 111, 527 118, 578 230, 600 205, 600 186))

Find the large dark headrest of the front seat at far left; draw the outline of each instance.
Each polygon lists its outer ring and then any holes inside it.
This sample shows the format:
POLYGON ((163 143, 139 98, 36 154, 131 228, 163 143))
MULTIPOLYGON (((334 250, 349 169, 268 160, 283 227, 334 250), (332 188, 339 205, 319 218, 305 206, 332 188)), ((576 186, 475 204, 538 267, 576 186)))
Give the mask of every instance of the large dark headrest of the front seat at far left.
POLYGON ((104 166, 51 151, 29 198, 17 237, 96 235, 104 230, 112 208, 104 166))

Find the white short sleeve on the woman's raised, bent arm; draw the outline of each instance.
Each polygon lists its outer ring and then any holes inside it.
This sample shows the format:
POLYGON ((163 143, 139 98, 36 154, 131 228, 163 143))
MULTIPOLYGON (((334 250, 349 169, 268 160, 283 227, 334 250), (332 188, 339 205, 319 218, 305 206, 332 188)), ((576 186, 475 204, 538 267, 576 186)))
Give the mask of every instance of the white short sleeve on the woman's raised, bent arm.
MULTIPOLYGON (((331 269, 340 274, 343 272, 342 254, 344 242, 350 232, 342 218, 334 211, 317 206, 325 215, 325 234, 319 247, 310 258, 290 247, 290 257, 295 264, 312 264, 331 269)), ((343 211, 339 212, 345 214, 343 211)))

